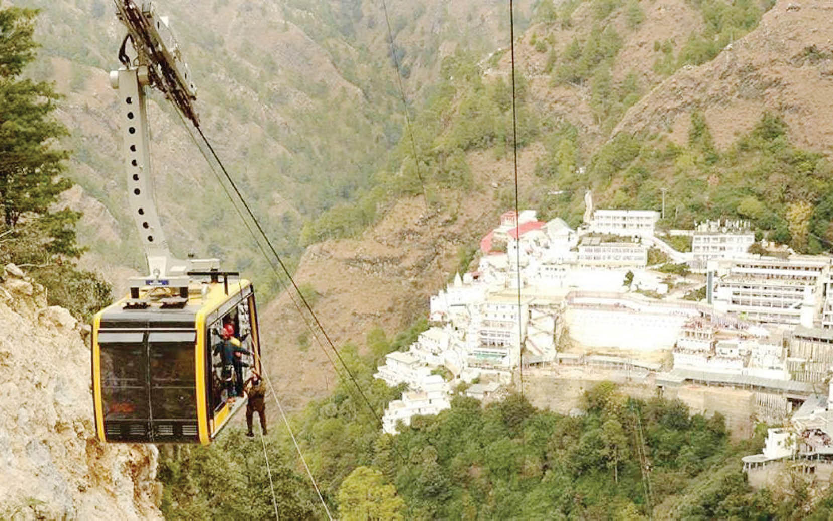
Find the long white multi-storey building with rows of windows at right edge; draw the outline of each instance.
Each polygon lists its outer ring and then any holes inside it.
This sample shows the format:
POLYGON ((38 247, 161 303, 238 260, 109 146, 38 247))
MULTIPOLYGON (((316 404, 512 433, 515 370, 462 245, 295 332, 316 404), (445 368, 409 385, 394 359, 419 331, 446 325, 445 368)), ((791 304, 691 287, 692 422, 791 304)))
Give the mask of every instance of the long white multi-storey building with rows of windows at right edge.
POLYGON ((831 258, 809 255, 732 260, 717 283, 715 309, 762 323, 811 327, 821 314, 830 266, 831 258))

